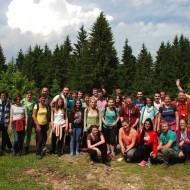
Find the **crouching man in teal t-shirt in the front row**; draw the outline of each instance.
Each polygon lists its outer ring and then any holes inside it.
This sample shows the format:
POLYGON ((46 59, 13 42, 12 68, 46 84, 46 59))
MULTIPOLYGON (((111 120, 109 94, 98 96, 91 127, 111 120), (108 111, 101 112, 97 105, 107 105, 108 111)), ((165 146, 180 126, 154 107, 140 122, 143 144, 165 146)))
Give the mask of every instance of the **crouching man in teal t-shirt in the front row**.
POLYGON ((162 122, 162 133, 157 150, 157 159, 159 162, 164 162, 164 168, 168 168, 170 164, 173 164, 178 159, 179 149, 177 136, 174 131, 170 130, 167 121, 162 122))

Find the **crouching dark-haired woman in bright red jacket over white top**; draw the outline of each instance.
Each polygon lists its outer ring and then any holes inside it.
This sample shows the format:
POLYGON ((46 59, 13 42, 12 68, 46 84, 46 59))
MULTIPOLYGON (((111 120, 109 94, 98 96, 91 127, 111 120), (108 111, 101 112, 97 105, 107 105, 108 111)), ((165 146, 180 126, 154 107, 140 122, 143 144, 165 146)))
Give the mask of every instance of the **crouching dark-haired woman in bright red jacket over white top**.
POLYGON ((134 159, 140 161, 139 166, 145 166, 148 158, 151 156, 156 158, 157 155, 158 136, 153 130, 153 123, 150 118, 144 122, 142 130, 138 133, 137 151, 134 153, 134 159))

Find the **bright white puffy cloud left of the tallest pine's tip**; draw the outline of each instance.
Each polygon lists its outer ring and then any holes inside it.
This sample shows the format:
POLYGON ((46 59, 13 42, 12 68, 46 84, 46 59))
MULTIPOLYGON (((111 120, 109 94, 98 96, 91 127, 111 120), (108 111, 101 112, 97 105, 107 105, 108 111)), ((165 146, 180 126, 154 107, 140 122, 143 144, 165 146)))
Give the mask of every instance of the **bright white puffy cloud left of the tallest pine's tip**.
POLYGON ((19 28, 22 33, 30 31, 47 36, 51 32, 60 34, 67 27, 78 30, 81 24, 89 25, 100 11, 98 8, 83 11, 81 6, 66 0, 13 0, 6 15, 10 27, 19 28))

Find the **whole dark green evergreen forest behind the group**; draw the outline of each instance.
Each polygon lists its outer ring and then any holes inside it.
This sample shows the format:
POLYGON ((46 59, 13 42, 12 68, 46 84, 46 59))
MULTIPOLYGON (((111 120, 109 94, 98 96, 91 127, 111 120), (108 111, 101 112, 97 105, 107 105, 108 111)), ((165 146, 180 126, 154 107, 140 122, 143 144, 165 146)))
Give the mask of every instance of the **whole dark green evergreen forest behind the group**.
POLYGON ((90 32, 81 26, 77 42, 69 35, 61 45, 50 50, 48 44, 22 49, 6 62, 0 45, 0 90, 7 90, 11 98, 16 92, 32 90, 37 95, 47 86, 50 95, 60 93, 63 86, 91 94, 93 88, 105 88, 108 94, 120 87, 128 95, 142 90, 145 95, 164 90, 176 97, 175 80, 190 93, 190 41, 183 34, 172 42, 160 42, 153 59, 145 44, 135 57, 128 39, 123 39, 121 61, 114 47, 114 36, 104 13, 100 13, 90 32))

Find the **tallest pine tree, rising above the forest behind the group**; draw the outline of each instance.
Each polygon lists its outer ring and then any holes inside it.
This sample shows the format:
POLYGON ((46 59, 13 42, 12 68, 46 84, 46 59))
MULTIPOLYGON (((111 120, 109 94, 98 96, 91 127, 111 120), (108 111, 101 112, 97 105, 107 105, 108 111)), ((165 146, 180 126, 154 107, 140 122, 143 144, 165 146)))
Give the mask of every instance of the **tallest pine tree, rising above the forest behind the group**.
POLYGON ((93 85, 98 88, 104 87, 108 93, 111 93, 117 85, 119 63, 111 27, 102 12, 92 26, 89 50, 93 85))

